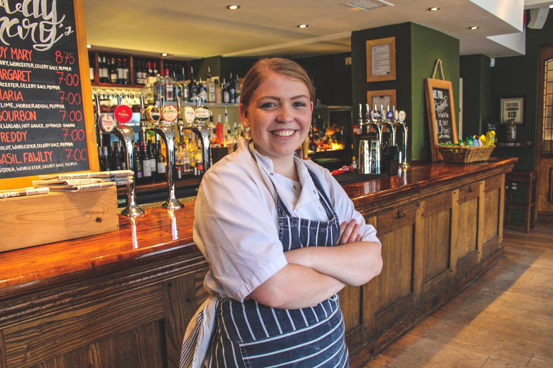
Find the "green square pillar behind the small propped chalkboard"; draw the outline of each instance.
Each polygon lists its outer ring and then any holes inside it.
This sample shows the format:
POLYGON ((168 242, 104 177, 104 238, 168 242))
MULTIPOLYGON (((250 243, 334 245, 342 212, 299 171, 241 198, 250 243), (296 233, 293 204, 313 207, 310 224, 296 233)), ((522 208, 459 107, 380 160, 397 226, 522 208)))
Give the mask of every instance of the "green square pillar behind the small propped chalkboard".
POLYGON ((395 89, 397 108, 407 114, 407 159, 430 159, 430 133, 424 96, 424 78, 430 77, 436 59, 444 63, 445 78, 452 82, 455 115, 459 106, 459 40, 416 23, 401 23, 352 33, 352 100, 367 103, 367 90, 395 89), (395 37, 396 80, 367 81, 366 41, 395 37))

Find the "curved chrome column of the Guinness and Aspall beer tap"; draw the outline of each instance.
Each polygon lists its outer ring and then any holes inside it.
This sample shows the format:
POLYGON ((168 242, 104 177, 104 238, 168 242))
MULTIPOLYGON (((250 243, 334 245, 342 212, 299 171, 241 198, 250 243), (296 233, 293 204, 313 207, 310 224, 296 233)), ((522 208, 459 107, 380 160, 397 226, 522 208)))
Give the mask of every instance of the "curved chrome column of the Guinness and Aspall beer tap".
MULTIPOLYGON (((160 110, 163 109, 165 99, 160 97, 160 110)), ((163 121, 163 120, 160 120, 163 121)), ((175 210, 184 205, 176 198, 176 169, 175 169, 175 127, 173 124, 154 124, 149 130, 158 134, 165 142, 166 164, 167 164, 167 190, 169 197, 161 207, 168 210, 175 210)))

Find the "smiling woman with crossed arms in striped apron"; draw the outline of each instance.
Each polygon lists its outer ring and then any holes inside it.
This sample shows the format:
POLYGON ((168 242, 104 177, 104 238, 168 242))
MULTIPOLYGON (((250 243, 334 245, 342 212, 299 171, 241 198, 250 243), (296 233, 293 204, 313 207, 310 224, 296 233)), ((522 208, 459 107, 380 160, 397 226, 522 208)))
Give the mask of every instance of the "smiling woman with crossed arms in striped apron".
POLYGON ((260 60, 244 79, 252 138, 207 171, 196 199, 212 297, 186 330, 181 367, 194 356, 192 367, 204 356, 208 366, 349 366, 337 292, 380 273, 380 243, 328 170, 295 155, 313 98, 290 60, 260 60))

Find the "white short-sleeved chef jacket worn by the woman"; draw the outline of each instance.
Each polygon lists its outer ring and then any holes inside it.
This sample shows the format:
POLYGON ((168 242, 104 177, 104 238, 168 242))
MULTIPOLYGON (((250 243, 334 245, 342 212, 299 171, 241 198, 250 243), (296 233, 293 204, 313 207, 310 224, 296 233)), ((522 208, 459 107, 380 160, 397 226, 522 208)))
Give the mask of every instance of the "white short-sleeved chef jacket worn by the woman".
POLYGON ((273 161, 250 147, 257 163, 241 137, 238 150, 207 170, 198 189, 193 235, 210 264, 204 286, 212 295, 243 301, 288 264, 279 240, 276 195, 269 178, 292 216, 328 221, 309 167, 330 198, 338 220, 355 218, 362 241, 379 243, 374 227, 365 223, 327 169, 295 157, 300 182, 294 182, 274 173, 273 161))

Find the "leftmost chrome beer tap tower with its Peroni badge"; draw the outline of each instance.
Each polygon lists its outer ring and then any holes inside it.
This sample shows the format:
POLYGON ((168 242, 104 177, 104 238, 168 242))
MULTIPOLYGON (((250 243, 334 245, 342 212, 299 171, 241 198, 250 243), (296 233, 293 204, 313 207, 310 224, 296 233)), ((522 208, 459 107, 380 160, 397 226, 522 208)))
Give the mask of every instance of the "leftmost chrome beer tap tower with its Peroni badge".
MULTIPOLYGON (((100 114, 100 98, 95 95, 96 100, 96 115, 98 129, 101 132, 111 133, 119 138, 119 141, 123 142, 123 150, 125 152, 125 163, 128 170, 136 170, 134 167, 134 131, 130 126, 124 124, 114 125, 114 120, 111 115, 100 114)), ((117 97, 117 103, 121 106, 122 97, 117 97)), ((131 108, 129 108, 129 111, 131 108)), ((100 134, 101 136, 102 134, 100 134)), ((102 141, 101 141, 102 142, 102 141)), ((135 176, 136 177, 136 176, 135 176)), ((138 216, 144 214, 144 210, 138 207, 136 202, 136 193, 134 191, 134 180, 132 183, 127 184, 127 207, 121 212, 123 216, 138 216)))

